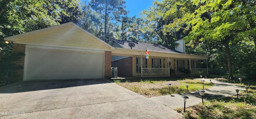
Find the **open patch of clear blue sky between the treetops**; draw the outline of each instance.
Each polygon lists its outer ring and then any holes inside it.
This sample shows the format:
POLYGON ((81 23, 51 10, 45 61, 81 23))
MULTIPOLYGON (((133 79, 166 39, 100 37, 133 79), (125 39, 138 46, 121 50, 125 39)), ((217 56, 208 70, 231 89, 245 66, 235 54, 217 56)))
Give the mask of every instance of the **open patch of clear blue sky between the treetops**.
POLYGON ((142 10, 148 10, 150 6, 153 6, 153 2, 155 0, 125 0, 126 10, 129 10, 129 17, 136 16, 136 18, 140 17, 139 13, 142 10))

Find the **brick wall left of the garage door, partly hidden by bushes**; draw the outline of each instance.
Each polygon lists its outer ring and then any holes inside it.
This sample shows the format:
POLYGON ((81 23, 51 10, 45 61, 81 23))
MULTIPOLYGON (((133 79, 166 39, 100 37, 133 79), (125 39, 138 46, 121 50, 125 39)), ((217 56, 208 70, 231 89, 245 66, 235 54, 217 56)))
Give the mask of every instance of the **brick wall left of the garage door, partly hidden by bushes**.
MULTIPOLYGON (((26 45, 25 44, 13 44, 13 52, 14 53, 24 53, 26 50, 26 45)), ((25 62, 25 56, 20 57, 19 60, 15 61, 14 63, 21 66, 21 69, 15 70, 14 75, 12 75, 11 79, 12 80, 23 80, 23 73, 24 73, 24 62, 25 62)))

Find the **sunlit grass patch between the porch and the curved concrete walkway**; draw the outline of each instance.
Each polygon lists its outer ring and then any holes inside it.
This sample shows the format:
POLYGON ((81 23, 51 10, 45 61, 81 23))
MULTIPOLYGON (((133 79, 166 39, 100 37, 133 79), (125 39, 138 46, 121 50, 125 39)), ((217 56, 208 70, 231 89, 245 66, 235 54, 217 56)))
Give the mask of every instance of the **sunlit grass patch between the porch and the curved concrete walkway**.
MULTIPOLYGON (((170 94, 181 94, 185 92, 192 92, 202 90, 203 84, 196 79, 180 79, 180 78, 148 78, 148 79, 130 79, 130 80, 114 80, 116 84, 136 92, 145 97, 165 96, 170 94), (168 83, 172 84, 169 87, 168 83), (186 88, 188 85, 188 90, 186 88)), ((204 88, 210 88, 212 85, 209 82, 204 82, 204 88)))

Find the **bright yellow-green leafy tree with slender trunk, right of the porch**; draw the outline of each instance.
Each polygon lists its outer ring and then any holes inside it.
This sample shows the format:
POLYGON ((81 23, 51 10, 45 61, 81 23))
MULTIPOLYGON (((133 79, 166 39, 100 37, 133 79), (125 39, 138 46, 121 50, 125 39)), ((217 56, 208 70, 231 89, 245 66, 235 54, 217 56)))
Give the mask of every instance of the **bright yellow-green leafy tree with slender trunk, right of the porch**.
POLYGON ((242 10, 239 1, 232 0, 192 0, 200 6, 193 14, 186 14, 183 21, 188 21, 187 29, 192 29, 187 40, 203 44, 221 44, 225 48, 229 77, 232 74, 232 53, 230 46, 246 39, 244 15, 236 16, 242 10))

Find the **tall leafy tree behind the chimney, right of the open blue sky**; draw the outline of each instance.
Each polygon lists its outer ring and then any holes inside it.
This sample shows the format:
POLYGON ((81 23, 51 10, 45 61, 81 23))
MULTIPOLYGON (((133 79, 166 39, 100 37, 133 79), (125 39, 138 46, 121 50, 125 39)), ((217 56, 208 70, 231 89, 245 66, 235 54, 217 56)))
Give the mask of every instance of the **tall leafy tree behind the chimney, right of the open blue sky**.
POLYGON ((191 13, 194 6, 186 0, 163 0, 153 4, 154 6, 151 6, 149 10, 143 11, 143 14, 146 15, 144 18, 160 38, 157 39, 158 42, 174 49, 175 41, 188 34, 184 32, 187 24, 181 18, 184 14, 191 13))

